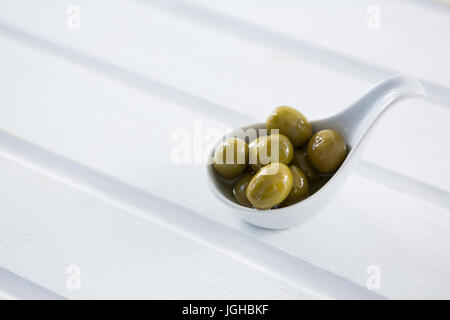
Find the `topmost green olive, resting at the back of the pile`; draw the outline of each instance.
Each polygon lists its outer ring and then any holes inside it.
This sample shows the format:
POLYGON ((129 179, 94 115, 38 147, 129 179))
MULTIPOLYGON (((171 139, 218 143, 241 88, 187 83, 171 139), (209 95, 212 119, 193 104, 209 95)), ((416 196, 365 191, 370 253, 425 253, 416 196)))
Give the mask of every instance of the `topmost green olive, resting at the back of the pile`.
POLYGON ((291 140, 294 147, 302 146, 312 135, 311 124, 305 116, 288 106, 278 107, 269 115, 267 129, 278 129, 279 133, 291 140))

